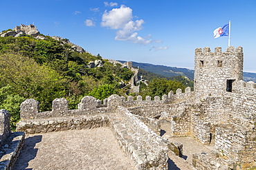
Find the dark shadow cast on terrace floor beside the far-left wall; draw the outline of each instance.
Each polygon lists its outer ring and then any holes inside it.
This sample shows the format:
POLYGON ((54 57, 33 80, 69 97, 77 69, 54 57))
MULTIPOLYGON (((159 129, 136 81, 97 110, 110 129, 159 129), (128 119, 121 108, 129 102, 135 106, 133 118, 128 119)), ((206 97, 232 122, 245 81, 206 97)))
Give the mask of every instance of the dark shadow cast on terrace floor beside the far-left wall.
MULTIPOLYGON (((38 149, 35 149, 35 145, 42 141, 42 135, 33 136, 25 139, 24 147, 21 151, 21 155, 17 160, 14 169, 21 170, 28 167, 28 162, 33 160, 37 156, 38 149)), ((32 170, 32 169, 28 169, 32 170)))

